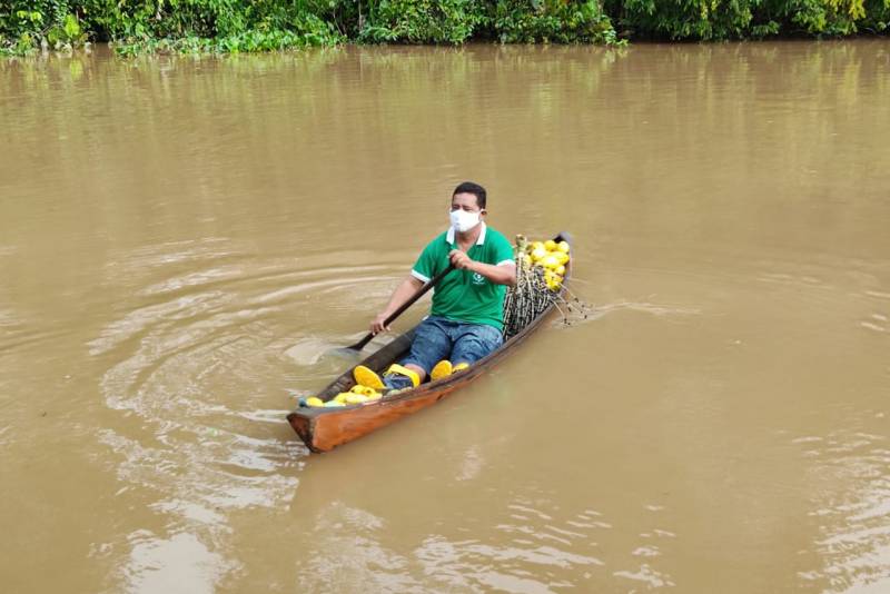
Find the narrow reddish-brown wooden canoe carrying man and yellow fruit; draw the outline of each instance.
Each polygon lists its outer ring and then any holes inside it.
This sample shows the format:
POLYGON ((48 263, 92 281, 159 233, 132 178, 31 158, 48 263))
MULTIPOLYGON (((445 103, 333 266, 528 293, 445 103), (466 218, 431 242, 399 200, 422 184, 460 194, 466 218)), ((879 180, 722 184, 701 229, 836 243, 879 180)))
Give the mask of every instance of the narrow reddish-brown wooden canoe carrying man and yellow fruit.
MULTIPOLYGON (((557 242, 565 240, 571 244, 571 238, 567 234, 560 234, 553 239, 557 242)), ((571 275, 571 264, 572 261, 570 260, 568 265, 566 265, 565 281, 568 280, 571 275)), ((565 285, 565 281, 563 285, 565 285)), ((561 291, 564 293, 565 288, 562 288, 561 291)), ((369 403, 333 408, 299 407, 287 416, 287 420, 310 451, 316 453, 329 452, 339 445, 358 439, 375 429, 437 403, 452 392, 473 382, 513 353, 520 343, 541 327, 554 309, 555 306, 551 305, 520 333, 504 341, 497 350, 477 360, 464 372, 436 382, 427 382, 414 389, 384 396, 382 399, 369 403)), ((360 365, 365 365, 377 373, 383 373, 392 363, 407 355, 414 339, 415 329, 416 327, 398 336, 392 343, 360 362, 360 365)), ((327 402, 340 392, 348 392, 355 385, 355 379, 353 379, 354 368, 355 366, 352 366, 344 372, 343 375, 322 390, 318 397, 327 402)))

